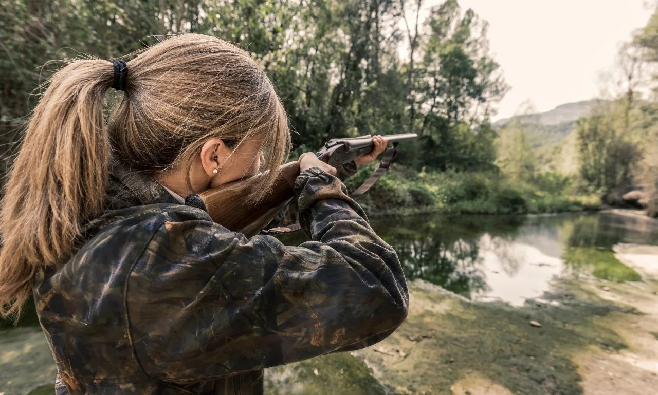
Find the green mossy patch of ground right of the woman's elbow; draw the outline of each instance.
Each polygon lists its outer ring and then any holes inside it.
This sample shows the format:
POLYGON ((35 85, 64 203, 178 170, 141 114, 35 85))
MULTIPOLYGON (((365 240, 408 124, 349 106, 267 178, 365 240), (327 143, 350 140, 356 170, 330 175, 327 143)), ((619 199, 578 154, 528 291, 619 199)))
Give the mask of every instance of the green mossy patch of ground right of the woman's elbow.
POLYGON ((420 281, 411 292, 417 307, 407 321, 392 337, 358 354, 381 370, 377 376, 390 388, 411 386, 420 394, 451 394, 454 383, 473 374, 514 394, 582 394, 574 352, 626 347, 597 318, 637 314, 569 282, 545 294, 544 302, 523 308, 467 302, 420 281))

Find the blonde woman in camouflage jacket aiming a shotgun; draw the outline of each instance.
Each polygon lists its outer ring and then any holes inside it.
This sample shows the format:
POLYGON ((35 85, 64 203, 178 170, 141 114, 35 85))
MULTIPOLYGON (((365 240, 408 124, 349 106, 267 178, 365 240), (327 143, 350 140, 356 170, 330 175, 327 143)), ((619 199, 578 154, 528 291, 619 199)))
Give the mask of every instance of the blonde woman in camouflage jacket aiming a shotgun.
MULTIPOLYGON (((361 162, 374 159, 385 145, 361 162)), ((247 53, 187 34, 130 60, 55 74, 0 212, 0 306, 34 294, 61 394, 261 394, 266 367, 357 350, 407 315, 397 255, 336 169, 299 159, 313 241, 247 239, 177 198, 288 154, 280 99, 247 53), (109 87, 124 98, 105 126, 109 87)))

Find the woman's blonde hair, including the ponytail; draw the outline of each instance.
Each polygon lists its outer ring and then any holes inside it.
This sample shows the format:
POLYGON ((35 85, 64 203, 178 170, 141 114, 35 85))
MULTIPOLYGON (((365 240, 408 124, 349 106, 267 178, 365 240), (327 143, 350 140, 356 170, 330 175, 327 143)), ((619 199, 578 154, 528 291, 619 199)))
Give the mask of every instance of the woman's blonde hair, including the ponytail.
POLYGON ((152 177, 190 166, 203 143, 259 139, 272 187, 290 152, 284 107, 248 53, 215 37, 170 37, 127 62, 124 97, 105 126, 111 62, 69 60, 34 109, 0 202, 0 315, 20 315, 34 278, 72 254, 81 225, 104 209, 111 160, 152 177))

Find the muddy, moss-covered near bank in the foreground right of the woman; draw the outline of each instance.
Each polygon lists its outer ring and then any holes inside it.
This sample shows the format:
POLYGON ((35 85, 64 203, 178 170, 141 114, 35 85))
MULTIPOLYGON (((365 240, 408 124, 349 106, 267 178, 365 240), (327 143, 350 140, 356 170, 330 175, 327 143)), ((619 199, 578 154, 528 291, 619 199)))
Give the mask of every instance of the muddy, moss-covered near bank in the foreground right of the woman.
POLYGON ((646 246, 624 248, 618 258, 646 281, 562 279, 520 308, 413 281, 409 317, 391 337, 352 358, 268 369, 269 393, 651 394, 658 388, 658 282, 646 277, 656 268, 633 256, 655 258, 658 247, 642 254, 634 248, 646 246), (363 374, 346 376, 353 365, 363 374))

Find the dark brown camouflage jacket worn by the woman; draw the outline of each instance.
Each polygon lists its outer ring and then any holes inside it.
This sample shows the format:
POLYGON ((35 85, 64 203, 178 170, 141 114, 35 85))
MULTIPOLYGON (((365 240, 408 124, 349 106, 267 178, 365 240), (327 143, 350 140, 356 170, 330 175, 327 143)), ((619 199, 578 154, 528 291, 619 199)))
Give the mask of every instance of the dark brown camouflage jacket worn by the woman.
POLYGON ((114 170, 105 213, 34 287, 57 394, 262 394, 263 369, 357 350, 405 319, 393 248, 318 168, 294 187, 311 241, 240 233, 114 170))

